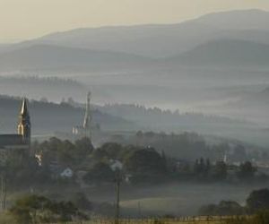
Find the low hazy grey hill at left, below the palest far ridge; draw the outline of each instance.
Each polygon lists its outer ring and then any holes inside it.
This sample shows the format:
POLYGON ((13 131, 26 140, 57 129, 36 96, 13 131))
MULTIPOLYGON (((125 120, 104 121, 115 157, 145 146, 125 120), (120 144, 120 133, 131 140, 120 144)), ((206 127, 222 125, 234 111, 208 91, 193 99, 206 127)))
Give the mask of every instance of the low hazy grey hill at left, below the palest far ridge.
POLYGON ((147 59, 143 56, 126 53, 54 45, 34 45, 0 55, 2 71, 134 66, 146 61, 147 59))

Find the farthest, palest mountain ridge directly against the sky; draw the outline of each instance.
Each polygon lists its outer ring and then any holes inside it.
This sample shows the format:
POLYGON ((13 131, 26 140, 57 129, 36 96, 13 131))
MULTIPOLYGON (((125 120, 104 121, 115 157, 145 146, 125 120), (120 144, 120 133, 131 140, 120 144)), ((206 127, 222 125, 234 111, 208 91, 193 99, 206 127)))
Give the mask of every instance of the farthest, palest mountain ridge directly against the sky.
POLYGON ((242 10, 210 13, 177 24, 82 28, 48 34, 1 49, 57 45, 166 57, 184 53, 214 39, 245 39, 269 44, 269 13, 242 10))

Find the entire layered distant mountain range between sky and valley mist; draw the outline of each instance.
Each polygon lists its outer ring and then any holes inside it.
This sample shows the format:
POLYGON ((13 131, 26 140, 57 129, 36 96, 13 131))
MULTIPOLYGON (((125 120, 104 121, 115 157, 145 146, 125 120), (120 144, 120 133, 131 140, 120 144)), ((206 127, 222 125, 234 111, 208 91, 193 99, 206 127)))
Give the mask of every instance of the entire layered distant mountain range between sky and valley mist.
POLYGON ((0 71, 135 68, 174 65, 263 65, 269 13, 211 13, 168 25, 85 28, 0 45, 0 71), (161 59, 160 59, 161 58, 161 59))

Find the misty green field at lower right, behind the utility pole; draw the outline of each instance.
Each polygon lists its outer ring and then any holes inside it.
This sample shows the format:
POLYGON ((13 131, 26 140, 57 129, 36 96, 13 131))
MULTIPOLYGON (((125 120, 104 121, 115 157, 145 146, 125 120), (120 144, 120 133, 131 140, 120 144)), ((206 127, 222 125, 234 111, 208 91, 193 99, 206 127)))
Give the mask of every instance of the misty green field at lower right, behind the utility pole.
MULTIPOLYGON (((171 183, 121 188, 122 217, 160 217, 167 214, 174 216, 195 216, 201 206, 218 203, 221 200, 245 204, 247 195, 253 189, 265 188, 266 185, 220 185, 171 183)), ((88 197, 93 202, 111 202, 115 200, 114 188, 87 189, 88 197)))

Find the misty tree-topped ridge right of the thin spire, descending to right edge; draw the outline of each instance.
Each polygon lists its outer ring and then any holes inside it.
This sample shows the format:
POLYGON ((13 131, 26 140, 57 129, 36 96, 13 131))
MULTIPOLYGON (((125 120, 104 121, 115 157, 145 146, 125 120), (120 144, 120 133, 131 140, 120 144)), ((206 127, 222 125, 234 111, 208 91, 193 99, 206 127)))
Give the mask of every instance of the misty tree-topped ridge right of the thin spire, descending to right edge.
POLYGON ((195 132, 237 139, 263 147, 268 145, 268 134, 264 130, 260 130, 259 125, 246 120, 202 113, 161 110, 161 108, 145 108, 133 104, 105 105, 97 107, 97 109, 111 116, 120 116, 136 125, 143 126, 143 130, 146 131, 174 132, 176 134, 195 132))

